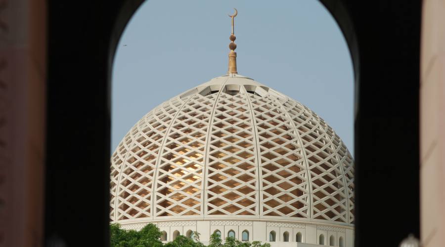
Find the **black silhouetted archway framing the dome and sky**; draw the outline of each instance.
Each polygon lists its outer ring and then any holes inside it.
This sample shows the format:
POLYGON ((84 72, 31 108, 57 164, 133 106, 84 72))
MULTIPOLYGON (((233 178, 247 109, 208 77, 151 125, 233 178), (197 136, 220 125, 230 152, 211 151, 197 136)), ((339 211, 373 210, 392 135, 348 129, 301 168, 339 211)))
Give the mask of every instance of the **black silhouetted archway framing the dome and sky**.
MULTIPOLYGON (((339 24, 354 63, 355 246, 368 245, 376 227, 397 246, 408 233, 419 236, 421 0, 320 1, 339 24), (376 191, 382 210, 409 204, 388 212, 381 225, 380 217, 366 213, 379 204, 360 197, 376 191)), ((47 1, 45 242, 109 245, 110 75, 119 38, 141 3, 47 1), (75 182, 82 172, 88 183, 75 182), (73 200, 80 194, 82 200, 73 200)))

